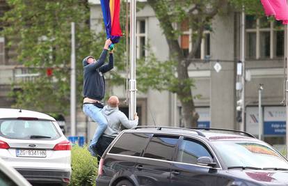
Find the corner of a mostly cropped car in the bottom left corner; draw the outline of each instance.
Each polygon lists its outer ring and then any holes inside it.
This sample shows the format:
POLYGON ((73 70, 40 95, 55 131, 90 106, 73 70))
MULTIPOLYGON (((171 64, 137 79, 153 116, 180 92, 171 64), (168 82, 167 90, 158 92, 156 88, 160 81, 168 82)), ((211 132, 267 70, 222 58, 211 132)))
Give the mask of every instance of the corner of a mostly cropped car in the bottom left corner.
POLYGON ((13 167, 0 158, 0 185, 1 186, 31 186, 31 184, 13 167))

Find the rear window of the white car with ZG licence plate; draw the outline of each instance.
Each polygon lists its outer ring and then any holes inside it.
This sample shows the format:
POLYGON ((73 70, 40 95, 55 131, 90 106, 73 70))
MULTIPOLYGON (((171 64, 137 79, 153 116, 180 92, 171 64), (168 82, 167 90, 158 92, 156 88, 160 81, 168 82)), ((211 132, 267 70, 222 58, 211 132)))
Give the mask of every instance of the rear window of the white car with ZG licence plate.
POLYGON ((10 139, 56 139, 52 121, 0 120, 0 135, 10 139))

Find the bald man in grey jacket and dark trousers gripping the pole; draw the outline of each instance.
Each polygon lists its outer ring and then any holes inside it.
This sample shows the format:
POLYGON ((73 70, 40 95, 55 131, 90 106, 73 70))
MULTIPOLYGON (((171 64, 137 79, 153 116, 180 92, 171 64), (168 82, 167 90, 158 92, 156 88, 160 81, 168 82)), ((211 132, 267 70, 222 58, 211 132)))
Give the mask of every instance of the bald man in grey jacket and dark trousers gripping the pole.
POLYGON ((104 134, 99 138, 97 155, 102 156, 106 148, 113 139, 120 133, 121 127, 131 129, 138 125, 138 116, 135 114, 134 120, 129 120, 127 116, 119 110, 119 99, 112 95, 108 100, 108 105, 102 109, 103 116, 107 119, 108 125, 104 134))

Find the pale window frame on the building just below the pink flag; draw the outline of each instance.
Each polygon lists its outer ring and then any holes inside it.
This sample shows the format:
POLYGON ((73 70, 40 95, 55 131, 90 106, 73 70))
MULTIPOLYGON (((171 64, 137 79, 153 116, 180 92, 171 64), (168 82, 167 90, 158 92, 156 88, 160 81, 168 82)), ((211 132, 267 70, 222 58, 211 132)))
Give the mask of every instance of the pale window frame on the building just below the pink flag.
MULTIPOLYGON (((246 18, 245 18, 246 20, 246 18)), ((270 56, 269 59, 274 59, 277 56, 274 56, 274 31, 276 31, 276 29, 274 28, 274 22, 270 22, 270 26, 269 28, 260 28, 260 19, 257 18, 256 20, 256 28, 255 29, 246 29, 245 31, 245 53, 246 55, 248 54, 247 49, 248 49, 248 42, 247 42, 247 33, 256 33, 256 59, 260 59, 260 32, 261 31, 269 31, 270 32, 270 56)), ((246 56, 246 58, 248 58, 248 56, 246 56)))

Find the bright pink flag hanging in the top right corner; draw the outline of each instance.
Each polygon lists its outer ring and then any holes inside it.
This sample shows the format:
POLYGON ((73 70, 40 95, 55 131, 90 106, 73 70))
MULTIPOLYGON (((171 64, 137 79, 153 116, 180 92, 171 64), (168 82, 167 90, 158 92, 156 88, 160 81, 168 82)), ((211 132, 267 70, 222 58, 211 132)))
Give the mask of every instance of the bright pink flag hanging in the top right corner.
POLYGON ((261 0, 267 16, 274 15, 276 20, 288 24, 287 0, 261 0))

